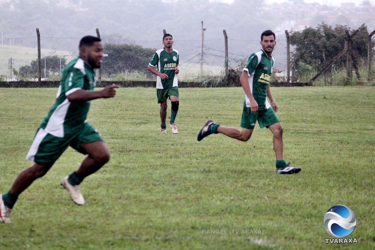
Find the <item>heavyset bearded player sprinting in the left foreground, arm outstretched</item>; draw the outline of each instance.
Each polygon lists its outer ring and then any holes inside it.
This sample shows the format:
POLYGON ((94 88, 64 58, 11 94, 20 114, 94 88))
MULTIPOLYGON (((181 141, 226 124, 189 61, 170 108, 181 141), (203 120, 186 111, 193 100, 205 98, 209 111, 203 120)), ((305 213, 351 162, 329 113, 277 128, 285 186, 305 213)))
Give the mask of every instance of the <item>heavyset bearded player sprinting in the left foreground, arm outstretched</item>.
POLYGON ((86 121, 90 103, 93 99, 114 97, 115 88, 120 87, 113 84, 93 91, 95 69, 100 68, 102 57, 100 38, 85 36, 81 39, 79 57, 63 69, 56 102, 42 120, 28 151, 26 159, 34 164, 17 176, 7 193, 0 195, 0 222, 10 222, 9 215, 18 196, 33 181, 45 175, 69 146, 87 157, 77 171, 62 179, 61 185, 69 191, 75 203, 85 203, 80 183, 110 160, 107 145, 86 121))

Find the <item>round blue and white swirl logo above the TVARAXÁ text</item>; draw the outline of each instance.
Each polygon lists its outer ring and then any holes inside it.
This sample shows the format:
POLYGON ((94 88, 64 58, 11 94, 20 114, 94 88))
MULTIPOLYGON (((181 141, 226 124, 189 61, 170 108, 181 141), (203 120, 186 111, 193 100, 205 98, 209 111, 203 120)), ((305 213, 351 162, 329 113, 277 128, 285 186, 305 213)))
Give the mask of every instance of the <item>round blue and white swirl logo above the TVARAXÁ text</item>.
POLYGON ((324 227, 336 238, 344 238, 357 226, 357 216, 353 210, 345 205, 336 205, 328 209, 324 215, 324 227))

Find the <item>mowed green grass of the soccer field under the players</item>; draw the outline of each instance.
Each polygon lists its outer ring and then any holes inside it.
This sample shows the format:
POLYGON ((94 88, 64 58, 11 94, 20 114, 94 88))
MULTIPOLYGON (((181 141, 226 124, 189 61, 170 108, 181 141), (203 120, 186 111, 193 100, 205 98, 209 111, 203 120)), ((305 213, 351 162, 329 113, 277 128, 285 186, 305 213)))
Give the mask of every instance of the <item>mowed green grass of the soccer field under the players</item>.
MULTIPOLYGON (((56 92, 0 89, 0 193, 31 165, 27 151, 56 92)), ((12 223, 0 224, 0 248, 374 249, 374 88, 272 92, 284 158, 302 168, 297 175, 276 175, 272 134, 258 125, 248 142, 196 140, 208 119, 239 128, 240 87, 181 88, 178 134, 160 134, 154 88, 121 88, 92 102, 88 120, 111 160, 82 183, 86 204, 75 205, 60 186, 84 158, 68 149, 20 195, 12 223), (357 244, 324 240, 333 238, 324 215, 338 204, 357 215, 348 236, 357 244)))

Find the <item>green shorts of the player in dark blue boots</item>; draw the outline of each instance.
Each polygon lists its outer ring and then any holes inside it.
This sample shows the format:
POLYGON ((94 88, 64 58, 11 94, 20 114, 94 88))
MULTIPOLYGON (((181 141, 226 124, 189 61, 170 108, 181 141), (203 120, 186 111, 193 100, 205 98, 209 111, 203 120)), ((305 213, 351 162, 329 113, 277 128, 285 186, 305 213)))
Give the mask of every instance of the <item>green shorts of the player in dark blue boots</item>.
POLYGON ((280 122, 272 107, 267 110, 258 110, 258 112, 253 113, 251 113, 251 108, 243 108, 240 124, 241 128, 252 130, 254 129, 257 120, 260 128, 268 128, 269 125, 280 122))

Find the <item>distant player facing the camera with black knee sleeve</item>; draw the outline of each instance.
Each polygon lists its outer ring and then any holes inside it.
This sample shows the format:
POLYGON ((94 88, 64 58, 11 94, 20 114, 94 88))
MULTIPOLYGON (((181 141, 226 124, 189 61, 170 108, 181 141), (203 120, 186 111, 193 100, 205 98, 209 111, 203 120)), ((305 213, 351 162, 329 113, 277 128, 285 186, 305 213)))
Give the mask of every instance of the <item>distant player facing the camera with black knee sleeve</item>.
POLYGON ((171 34, 163 36, 164 48, 157 50, 147 66, 148 71, 157 75, 156 95, 157 103, 160 103, 161 133, 166 134, 166 100, 171 100, 171 120, 169 126, 174 134, 178 133, 175 118, 178 111, 178 51, 172 49, 173 38, 171 34), (157 70, 154 66, 157 65, 157 70))

